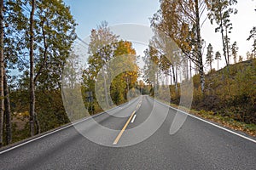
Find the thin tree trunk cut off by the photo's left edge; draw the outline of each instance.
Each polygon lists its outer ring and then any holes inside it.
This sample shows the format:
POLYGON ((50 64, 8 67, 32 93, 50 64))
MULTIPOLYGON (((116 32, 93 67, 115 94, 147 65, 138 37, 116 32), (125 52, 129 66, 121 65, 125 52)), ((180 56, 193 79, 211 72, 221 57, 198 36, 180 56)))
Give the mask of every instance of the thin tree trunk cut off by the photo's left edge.
POLYGON ((0 147, 3 146, 3 0, 0 0, 0 147))

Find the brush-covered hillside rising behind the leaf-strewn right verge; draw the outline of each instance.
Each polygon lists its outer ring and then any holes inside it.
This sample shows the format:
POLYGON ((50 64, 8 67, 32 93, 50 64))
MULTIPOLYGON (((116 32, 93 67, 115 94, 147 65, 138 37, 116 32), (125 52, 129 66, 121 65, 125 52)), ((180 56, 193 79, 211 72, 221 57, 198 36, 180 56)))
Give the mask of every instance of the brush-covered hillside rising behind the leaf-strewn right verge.
POLYGON ((256 59, 211 71, 206 75, 204 95, 198 90, 198 76, 194 77, 194 83, 194 109, 256 124, 256 59))

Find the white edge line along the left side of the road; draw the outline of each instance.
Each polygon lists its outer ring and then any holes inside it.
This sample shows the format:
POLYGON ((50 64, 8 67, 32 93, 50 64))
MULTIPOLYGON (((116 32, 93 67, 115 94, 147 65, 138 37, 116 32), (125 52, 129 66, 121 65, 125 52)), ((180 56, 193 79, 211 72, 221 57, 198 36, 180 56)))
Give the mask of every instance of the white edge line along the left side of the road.
MULTIPOLYGON (((118 109, 118 108, 119 108, 119 106, 114 107, 114 108, 112 108, 112 109, 110 109, 110 110, 108 110, 108 111, 113 111, 114 109, 118 109)), ((15 150, 16 148, 19 148, 20 146, 25 145, 25 144, 29 144, 29 143, 31 143, 31 142, 33 142, 33 141, 35 141, 35 140, 42 139, 42 138, 44 138, 45 136, 48 136, 49 134, 59 132, 59 131, 65 129, 65 128, 68 128, 68 127, 72 127, 72 126, 74 126, 74 125, 76 125, 76 124, 79 124, 80 122, 84 122, 84 121, 86 121, 86 120, 88 120, 88 119, 91 119, 91 118, 93 118, 93 117, 95 117, 95 116, 100 116, 100 115, 102 115, 102 114, 104 114, 104 113, 106 113, 106 112, 108 112, 108 111, 103 111, 102 113, 96 114, 96 115, 94 115, 94 116, 84 117, 84 119, 80 120, 79 122, 71 122, 71 124, 70 124, 70 125, 67 125, 66 127, 61 127, 61 128, 56 129, 56 130, 54 130, 54 131, 52 131, 52 132, 50 132, 50 133, 46 133, 46 134, 44 134, 44 135, 38 136, 37 138, 30 139, 30 140, 28 140, 28 141, 26 141, 26 142, 24 142, 24 143, 17 144, 17 145, 15 145, 15 146, 13 146, 13 147, 10 147, 9 149, 2 150, 2 151, 0 151, 0 155, 3 154, 3 153, 5 153, 5 152, 8 152, 8 151, 10 151, 10 150, 15 150)))

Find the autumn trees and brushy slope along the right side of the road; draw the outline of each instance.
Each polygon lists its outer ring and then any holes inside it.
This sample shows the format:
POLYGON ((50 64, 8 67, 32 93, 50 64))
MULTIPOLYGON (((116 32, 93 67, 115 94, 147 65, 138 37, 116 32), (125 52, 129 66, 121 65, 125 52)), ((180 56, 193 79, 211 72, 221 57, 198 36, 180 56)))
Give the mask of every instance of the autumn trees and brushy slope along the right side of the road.
POLYGON ((154 37, 143 56, 144 80, 151 85, 151 94, 178 105, 180 83, 193 80, 192 107, 216 114, 219 112, 241 122, 255 123, 255 108, 252 106, 255 105, 255 98, 251 95, 255 95, 254 90, 241 81, 243 79, 244 83, 255 87, 255 77, 252 77, 255 65, 247 69, 241 69, 241 64, 230 67, 231 63, 256 58, 255 26, 245 37, 247 41, 253 41, 253 49, 247 52, 247 57, 238 56, 237 42, 230 42, 233 29, 230 16, 238 12, 236 3, 236 0, 160 0, 160 9, 150 19, 154 37), (222 37, 222 52, 214 52, 212 44, 205 42, 201 36, 206 20, 217 24, 215 32, 222 37), (206 54, 203 53, 204 44, 208 44, 206 54), (203 61, 205 59, 206 63, 203 61), (210 72, 214 72, 212 63, 216 60, 218 64, 220 59, 225 62, 224 69, 214 74, 216 77, 207 76, 205 69, 210 67, 210 72), (171 84, 171 96, 161 93, 164 84, 171 84))

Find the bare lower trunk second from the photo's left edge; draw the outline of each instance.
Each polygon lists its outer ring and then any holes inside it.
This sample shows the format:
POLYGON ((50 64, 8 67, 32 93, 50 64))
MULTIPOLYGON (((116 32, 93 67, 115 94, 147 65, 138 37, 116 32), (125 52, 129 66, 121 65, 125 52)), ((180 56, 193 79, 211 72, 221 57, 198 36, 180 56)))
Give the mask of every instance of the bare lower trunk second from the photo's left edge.
POLYGON ((9 102, 9 88, 7 82, 6 71, 3 73, 3 89, 4 89, 4 114, 5 114, 5 126, 6 126, 6 144, 12 142, 12 122, 11 122, 11 111, 9 102))

